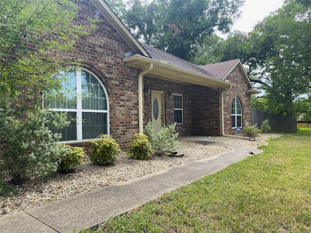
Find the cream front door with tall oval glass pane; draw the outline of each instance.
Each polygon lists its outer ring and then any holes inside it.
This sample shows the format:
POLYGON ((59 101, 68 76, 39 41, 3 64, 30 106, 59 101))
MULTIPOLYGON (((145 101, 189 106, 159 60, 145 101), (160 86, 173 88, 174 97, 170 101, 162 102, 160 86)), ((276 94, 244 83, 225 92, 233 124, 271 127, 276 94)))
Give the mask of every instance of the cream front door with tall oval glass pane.
POLYGON ((152 91, 152 124, 157 134, 164 126, 164 92, 152 91))

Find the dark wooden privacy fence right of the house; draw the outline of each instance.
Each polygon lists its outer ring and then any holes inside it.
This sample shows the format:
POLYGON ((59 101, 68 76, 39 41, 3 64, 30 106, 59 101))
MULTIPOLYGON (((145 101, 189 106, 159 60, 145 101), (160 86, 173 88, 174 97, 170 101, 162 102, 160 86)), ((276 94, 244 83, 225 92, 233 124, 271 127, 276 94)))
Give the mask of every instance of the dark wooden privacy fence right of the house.
POLYGON ((266 113, 258 109, 252 108, 252 125, 257 123, 260 129, 262 121, 269 119, 269 125, 272 133, 296 133, 297 119, 289 116, 276 116, 271 113, 266 113))

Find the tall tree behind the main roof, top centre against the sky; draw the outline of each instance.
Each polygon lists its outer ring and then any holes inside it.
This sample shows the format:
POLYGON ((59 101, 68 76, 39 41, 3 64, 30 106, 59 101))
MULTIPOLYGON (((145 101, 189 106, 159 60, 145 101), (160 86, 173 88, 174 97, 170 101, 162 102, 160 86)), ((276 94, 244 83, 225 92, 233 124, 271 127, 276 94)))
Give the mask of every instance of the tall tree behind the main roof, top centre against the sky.
POLYGON ((243 0, 133 0, 122 15, 135 36, 190 61, 206 35, 228 33, 243 0))

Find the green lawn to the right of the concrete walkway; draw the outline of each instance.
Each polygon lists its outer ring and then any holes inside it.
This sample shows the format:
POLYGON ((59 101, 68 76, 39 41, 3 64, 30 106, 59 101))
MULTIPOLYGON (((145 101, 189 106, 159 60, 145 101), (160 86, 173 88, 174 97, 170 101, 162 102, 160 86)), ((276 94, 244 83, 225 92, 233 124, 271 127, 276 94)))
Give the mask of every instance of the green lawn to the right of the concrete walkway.
POLYGON ((311 233, 311 130, 82 233, 311 233))

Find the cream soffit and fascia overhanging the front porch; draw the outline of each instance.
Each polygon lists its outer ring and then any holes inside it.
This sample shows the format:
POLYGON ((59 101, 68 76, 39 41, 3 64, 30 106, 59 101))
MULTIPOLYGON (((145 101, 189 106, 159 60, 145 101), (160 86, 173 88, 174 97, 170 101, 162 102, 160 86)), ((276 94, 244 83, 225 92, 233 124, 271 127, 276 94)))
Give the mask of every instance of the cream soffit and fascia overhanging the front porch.
POLYGON ((123 61, 127 66, 140 68, 145 70, 149 67, 150 63, 153 63, 153 69, 149 71, 146 76, 170 80, 178 83, 187 84, 199 84, 203 86, 217 88, 228 88, 230 86, 236 86, 234 83, 218 80, 207 75, 199 74, 187 69, 174 67, 168 65, 166 61, 155 61, 141 55, 134 55, 131 57, 123 58, 123 61))

